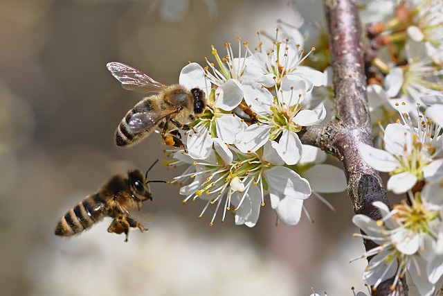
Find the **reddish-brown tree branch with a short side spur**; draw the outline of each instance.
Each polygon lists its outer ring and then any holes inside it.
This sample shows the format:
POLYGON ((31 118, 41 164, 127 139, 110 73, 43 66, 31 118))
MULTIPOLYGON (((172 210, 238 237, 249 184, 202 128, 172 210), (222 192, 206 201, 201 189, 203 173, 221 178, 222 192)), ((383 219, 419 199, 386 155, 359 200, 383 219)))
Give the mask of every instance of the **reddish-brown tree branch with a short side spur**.
MULTIPOLYGON (((378 220, 381 214, 372 202, 381 201, 389 206, 386 190, 379 173, 359 155, 359 143, 372 145, 359 13, 352 0, 325 0, 325 12, 334 71, 336 119, 324 127, 307 128, 300 133, 300 139, 341 159, 354 213, 378 220)), ((363 243, 366 250, 377 246, 368 240, 363 243)), ((392 283, 393 278, 383 281, 372 295, 408 295, 404 279, 395 290, 390 289, 392 283)))

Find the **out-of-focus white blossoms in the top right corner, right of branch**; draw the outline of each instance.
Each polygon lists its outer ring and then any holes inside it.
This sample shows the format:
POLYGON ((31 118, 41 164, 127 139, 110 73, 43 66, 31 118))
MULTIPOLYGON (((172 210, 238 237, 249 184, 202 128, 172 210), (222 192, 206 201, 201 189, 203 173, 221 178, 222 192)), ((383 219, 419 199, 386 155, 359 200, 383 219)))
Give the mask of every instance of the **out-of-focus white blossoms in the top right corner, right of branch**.
MULTIPOLYGON (((406 103, 413 112, 415 103, 422 109, 426 96, 442 96, 443 1, 370 1, 373 24, 369 42, 377 55, 368 79, 368 96, 373 122, 395 119, 395 105, 406 103), (381 11, 383 10, 383 11, 381 11)), ((411 116, 415 115, 414 112, 411 116)))

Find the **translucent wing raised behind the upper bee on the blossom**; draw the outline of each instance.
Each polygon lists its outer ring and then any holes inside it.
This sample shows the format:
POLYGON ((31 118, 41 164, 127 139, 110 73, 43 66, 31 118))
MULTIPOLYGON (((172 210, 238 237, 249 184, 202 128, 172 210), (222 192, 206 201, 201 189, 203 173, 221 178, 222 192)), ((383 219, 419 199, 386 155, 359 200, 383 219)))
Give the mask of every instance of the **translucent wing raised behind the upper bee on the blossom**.
POLYGON ((109 62, 106 67, 111 71, 112 76, 121 82, 124 89, 132 90, 133 92, 141 92, 143 94, 160 92, 167 87, 163 83, 150 78, 142 71, 138 71, 121 62, 109 62))

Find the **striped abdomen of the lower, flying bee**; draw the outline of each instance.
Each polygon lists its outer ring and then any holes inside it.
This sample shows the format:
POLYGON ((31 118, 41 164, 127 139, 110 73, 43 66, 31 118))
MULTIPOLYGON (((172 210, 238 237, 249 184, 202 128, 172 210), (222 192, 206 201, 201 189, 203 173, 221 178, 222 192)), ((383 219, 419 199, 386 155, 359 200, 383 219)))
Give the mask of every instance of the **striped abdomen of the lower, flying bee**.
POLYGON ((97 193, 90 195, 60 218, 55 227, 57 236, 72 236, 91 227, 106 216, 105 202, 97 193))

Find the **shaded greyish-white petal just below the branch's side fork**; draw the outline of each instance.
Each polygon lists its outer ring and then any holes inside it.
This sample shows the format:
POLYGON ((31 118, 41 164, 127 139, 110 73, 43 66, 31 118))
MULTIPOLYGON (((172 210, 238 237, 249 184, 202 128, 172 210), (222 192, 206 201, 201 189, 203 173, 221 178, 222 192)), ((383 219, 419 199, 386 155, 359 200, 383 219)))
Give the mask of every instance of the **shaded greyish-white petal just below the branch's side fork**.
POLYGON ((347 188, 345 173, 332 164, 317 164, 303 175, 318 193, 342 192, 347 188))

